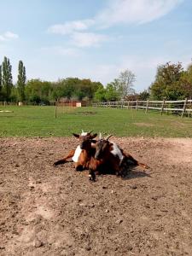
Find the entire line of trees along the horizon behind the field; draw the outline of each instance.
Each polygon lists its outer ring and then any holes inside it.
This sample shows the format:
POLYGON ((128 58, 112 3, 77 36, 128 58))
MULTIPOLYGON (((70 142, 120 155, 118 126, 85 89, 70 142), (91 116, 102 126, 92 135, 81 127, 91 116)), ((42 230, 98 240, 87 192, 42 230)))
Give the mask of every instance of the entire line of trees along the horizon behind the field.
POLYGON ((27 104, 50 104, 61 98, 77 101, 119 101, 119 100, 179 100, 192 98, 192 65, 184 70, 180 62, 167 62, 157 67, 154 82, 136 93, 136 75, 129 69, 119 73, 119 77, 103 86, 90 79, 66 78, 56 82, 40 79, 26 80, 23 61, 18 64, 17 82, 13 84, 12 66, 6 56, 0 65, 0 102, 25 102, 27 104))

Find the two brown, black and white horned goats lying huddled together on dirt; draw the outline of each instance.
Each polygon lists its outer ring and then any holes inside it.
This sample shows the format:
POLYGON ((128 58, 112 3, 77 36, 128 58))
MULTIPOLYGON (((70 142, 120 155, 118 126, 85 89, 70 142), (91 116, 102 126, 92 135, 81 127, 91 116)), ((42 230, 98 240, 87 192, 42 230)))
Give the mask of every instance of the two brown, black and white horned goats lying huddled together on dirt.
POLYGON ((115 173, 125 177, 130 166, 148 168, 145 164, 135 160, 131 154, 124 152, 116 143, 109 142, 108 139, 112 135, 102 138, 100 134, 98 141, 94 140, 97 134, 92 135, 91 131, 82 131, 80 135, 73 133, 73 136, 79 138, 79 146, 71 150, 63 159, 56 161, 55 166, 72 158, 76 171, 89 170, 92 181, 96 180, 96 173, 115 173))

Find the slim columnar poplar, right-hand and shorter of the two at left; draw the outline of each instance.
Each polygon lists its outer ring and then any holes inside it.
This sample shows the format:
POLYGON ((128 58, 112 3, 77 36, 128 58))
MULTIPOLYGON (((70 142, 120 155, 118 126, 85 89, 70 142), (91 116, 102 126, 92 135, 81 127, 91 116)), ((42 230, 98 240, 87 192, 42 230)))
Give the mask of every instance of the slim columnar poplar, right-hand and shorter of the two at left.
POLYGON ((23 66, 22 61, 19 61, 17 90, 19 93, 20 102, 24 102, 26 98, 25 86, 26 86, 26 67, 23 66))

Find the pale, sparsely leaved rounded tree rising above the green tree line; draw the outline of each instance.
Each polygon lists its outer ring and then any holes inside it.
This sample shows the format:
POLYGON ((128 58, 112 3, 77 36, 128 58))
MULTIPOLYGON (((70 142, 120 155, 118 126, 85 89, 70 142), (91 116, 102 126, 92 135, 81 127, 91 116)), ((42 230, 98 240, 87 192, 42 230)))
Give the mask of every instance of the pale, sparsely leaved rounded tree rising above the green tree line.
POLYGON ((129 69, 121 72, 118 79, 118 90, 122 98, 134 93, 133 82, 136 81, 136 76, 129 69))

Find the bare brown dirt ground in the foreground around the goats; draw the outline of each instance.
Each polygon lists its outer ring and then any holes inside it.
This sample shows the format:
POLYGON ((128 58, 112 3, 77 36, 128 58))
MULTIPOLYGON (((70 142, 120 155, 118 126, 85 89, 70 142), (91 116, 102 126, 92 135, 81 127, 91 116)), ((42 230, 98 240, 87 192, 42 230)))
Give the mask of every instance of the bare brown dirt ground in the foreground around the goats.
POLYGON ((0 255, 192 255, 192 140, 113 138, 127 178, 53 162, 71 138, 0 138, 0 255))

